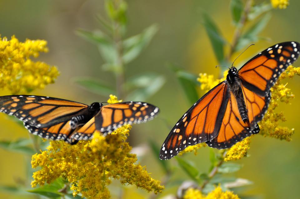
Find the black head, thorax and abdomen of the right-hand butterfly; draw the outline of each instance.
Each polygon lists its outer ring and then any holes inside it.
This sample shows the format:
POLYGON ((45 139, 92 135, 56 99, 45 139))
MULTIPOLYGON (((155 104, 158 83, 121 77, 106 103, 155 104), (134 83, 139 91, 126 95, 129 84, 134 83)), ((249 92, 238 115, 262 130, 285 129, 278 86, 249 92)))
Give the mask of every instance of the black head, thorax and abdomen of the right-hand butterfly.
POLYGON ((241 80, 238 76, 236 67, 230 68, 226 77, 226 81, 229 87, 228 91, 231 91, 237 100, 238 111, 240 113, 243 122, 249 121, 247 115, 247 108, 246 108, 242 87, 241 87, 241 80))

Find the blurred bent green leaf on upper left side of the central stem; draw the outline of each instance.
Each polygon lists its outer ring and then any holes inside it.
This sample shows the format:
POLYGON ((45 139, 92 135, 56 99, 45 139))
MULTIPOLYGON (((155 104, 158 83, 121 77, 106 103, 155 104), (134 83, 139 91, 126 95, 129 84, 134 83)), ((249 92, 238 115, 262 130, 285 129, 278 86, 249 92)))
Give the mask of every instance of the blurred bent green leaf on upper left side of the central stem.
POLYGON ((77 35, 81 36, 83 39, 97 44, 99 52, 105 62, 110 64, 117 64, 118 62, 118 52, 116 47, 113 44, 108 36, 106 36, 102 31, 86 31, 86 30, 77 30, 77 35))

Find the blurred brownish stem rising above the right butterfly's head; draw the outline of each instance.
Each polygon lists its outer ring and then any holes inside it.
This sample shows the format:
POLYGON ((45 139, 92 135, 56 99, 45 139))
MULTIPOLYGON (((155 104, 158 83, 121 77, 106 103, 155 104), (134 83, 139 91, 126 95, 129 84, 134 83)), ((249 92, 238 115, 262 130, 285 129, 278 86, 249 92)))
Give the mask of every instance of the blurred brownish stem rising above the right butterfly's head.
POLYGON ((245 23, 247 21, 247 17, 248 17, 248 14, 249 14, 249 11, 250 11, 250 8, 251 8, 251 5, 252 5, 252 1, 253 0, 247 0, 247 2, 245 4, 242 17, 241 17, 241 19, 240 19, 240 21, 237 25, 237 28, 235 29, 234 34, 233 34, 232 44, 231 44, 228 56, 226 58, 227 62, 230 61, 230 58, 231 58, 232 54, 235 52, 237 42, 241 37, 242 29, 245 26, 245 23))

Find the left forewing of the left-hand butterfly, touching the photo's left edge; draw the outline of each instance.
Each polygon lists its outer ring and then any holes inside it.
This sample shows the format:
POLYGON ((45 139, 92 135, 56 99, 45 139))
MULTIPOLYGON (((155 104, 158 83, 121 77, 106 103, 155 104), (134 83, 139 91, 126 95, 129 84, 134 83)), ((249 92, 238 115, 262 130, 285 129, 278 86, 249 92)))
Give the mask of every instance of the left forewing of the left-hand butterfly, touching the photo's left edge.
POLYGON ((43 96, 0 97, 0 111, 13 115, 37 128, 50 127, 85 114, 88 106, 82 103, 43 96))

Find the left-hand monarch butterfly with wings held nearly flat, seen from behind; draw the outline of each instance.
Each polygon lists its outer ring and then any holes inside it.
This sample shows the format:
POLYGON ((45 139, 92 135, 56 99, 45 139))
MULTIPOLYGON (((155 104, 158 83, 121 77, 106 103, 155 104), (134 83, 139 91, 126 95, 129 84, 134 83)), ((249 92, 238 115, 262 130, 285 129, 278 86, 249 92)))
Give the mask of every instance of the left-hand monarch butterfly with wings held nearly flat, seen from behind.
POLYGON ((90 139, 95 130, 106 135, 125 124, 151 120, 159 109, 145 102, 88 106, 53 97, 10 95, 0 97, 0 112, 22 120, 34 135, 76 144, 90 139))

